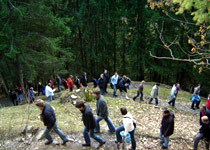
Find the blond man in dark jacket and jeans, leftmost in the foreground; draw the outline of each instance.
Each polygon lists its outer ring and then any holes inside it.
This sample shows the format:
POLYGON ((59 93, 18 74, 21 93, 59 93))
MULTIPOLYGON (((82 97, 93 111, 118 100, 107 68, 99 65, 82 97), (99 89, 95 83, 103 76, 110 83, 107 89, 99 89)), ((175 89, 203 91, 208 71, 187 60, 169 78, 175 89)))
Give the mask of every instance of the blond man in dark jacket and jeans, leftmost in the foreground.
POLYGON ((46 126, 44 136, 48 139, 48 141, 45 142, 45 145, 49 145, 53 142, 52 136, 50 135, 51 130, 54 130, 55 133, 57 133, 63 140, 62 145, 65 145, 66 142, 69 142, 70 140, 67 138, 67 136, 65 136, 57 127, 56 116, 53 108, 41 99, 36 100, 35 105, 42 111, 40 117, 46 126))

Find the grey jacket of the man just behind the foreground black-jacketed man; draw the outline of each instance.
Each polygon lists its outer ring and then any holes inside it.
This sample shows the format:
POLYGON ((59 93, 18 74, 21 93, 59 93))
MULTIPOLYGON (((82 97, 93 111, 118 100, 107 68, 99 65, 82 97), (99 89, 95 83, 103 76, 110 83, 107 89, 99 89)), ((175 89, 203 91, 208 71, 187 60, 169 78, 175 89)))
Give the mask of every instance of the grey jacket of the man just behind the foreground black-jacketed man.
POLYGON ((96 114, 98 116, 101 116, 101 117, 107 117, 109 115, 109 112, 108 112, 108 108, 107 108, 107 104, 106 104, 106 101, 104 100, 104 98, 102 96, 99 96, 98 99, 96 99, 97 102, 96 102, 96 114))

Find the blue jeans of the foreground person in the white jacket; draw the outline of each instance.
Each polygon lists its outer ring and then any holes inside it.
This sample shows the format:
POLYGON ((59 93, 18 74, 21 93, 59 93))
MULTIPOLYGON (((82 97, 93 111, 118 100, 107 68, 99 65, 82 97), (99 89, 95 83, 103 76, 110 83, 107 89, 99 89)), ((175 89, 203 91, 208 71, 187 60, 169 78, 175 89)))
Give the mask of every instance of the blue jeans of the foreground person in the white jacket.
MULTIPOLYGON (((118 128, 115 129, 115 133, 116 133, 116 137, 117 137, 117 141, 122 143, 122 136, 120 135, 121 131, 124 131, 125 128, 124 126, 119 126, 118 128)), ((131 132, 129 132, 131 135, 131 145, 132 145, 132 149, 135 150, 136 149, 136 140, 134 137, 134 133, 135 133, 135 129, 131 132)))

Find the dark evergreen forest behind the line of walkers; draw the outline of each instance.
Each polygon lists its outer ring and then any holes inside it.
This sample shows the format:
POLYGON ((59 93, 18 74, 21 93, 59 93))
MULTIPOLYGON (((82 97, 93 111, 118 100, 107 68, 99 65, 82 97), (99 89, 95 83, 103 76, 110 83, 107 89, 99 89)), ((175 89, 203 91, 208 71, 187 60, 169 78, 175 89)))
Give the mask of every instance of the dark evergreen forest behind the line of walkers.
POLYGON ((1 94, 58 74, 85 71, 91 81, 107 69, 133 81, 179 82, 187 91, 201 84, 206 96, 210 4, 197 2, 0 0, 1 94), (184 61, 161 59, 170 50, 184 61))

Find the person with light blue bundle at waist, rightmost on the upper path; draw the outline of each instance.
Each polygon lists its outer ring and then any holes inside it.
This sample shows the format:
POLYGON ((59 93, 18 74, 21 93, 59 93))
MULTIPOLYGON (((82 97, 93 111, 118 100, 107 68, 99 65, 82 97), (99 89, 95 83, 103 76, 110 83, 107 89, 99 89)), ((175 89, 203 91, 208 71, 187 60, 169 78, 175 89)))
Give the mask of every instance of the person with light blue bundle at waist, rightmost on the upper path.
POLYGON ((200 100, 201 100, 201 98, 200 98, 200 96, 199 96, 199 94, 200 94, 200 88, 201 88, 200 84, 199 84, 197 87, 195 87, 194 93, 193 93, 193 95, 192 95, 192 97, 191 97, 191 100, 192 100, 191 109, 193 109, 193 110, 195 110, 195 108, 194 108, 194 105, 195 105, 195 104, 196 104, 195 107, 196 107, 197 109, 199 109, 200 100))

